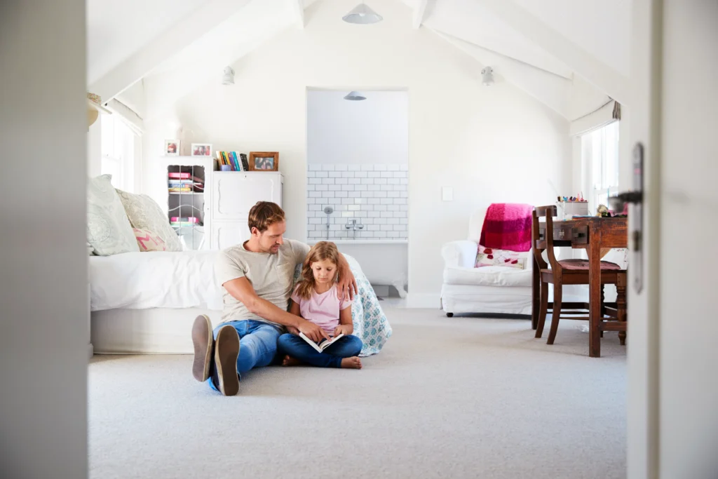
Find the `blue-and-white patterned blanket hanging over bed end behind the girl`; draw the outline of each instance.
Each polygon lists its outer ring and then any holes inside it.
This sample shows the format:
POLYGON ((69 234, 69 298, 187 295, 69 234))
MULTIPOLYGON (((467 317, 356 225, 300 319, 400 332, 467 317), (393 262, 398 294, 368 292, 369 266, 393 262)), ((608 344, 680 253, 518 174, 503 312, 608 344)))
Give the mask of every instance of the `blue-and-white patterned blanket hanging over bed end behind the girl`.
MULTIPOLYGON (((379 299, 357 260, 348 254, 345 254, 344 257, 349 263, 349 268, 354 274, 358 287, 358 294, 355 295, 352 303, 352 322, 354 324, 352 334, 363 343, 359 355, 362 357, 373 355, 381 351, 386 340, 391 337, 391 325, 389 325, 379 299)), ((295 284, 299 282, 301 269, 302 266, 299 265, 294 272, 295 284)))

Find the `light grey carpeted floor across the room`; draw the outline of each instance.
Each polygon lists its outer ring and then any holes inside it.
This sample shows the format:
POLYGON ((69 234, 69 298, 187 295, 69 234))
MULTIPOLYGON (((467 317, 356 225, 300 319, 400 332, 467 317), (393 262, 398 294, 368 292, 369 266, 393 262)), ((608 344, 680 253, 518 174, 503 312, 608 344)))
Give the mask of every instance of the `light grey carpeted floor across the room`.
POLYGON ((585 322, 548 346, 528 320, 386 313, 363 370, 264 368, 235 397, 191 356, 96 355, 90 478, 625 478, 615 332, 589 358, 585 322))

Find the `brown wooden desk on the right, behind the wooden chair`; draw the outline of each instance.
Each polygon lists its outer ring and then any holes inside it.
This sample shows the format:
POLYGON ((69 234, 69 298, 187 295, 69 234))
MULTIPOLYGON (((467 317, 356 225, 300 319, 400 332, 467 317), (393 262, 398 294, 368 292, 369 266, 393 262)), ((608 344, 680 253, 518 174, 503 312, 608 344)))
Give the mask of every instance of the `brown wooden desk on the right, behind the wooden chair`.
MULTIPOLYGON (((546 238, 546 223, 538 227, 539 241, 546 238)), ((601 249, 628 248, 628 218, 578 218, 554 221, 554 246, 570 246, 587 250, 589 259, 589 356, 601 356, 601 249)), ((533 255, 531 256, 533 259, 533 255)), ((540 273, 533 259, 533 309, 531 327, 538 324, 540 273)), ((611 329, 613 329, 611 327, 611 329)))

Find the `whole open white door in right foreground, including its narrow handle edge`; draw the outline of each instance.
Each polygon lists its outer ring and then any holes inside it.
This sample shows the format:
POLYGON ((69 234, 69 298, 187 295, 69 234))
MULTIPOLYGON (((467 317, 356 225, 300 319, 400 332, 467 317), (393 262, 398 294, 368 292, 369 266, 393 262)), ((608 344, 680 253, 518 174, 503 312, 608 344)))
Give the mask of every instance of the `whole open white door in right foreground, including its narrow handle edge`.
POLYGON ((718 2, 633 7, 630 136, 645 145, 645 213, 643 291, 628 298, 628 478, 714 479, 718 2))

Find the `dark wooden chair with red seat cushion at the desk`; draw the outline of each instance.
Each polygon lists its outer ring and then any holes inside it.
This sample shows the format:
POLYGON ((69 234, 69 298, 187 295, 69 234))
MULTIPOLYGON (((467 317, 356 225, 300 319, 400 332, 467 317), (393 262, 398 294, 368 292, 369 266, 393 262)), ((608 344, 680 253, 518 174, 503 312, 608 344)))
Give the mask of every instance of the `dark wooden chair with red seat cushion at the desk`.
MULTIPOLYGON (((556 216, 556 206, 537 206, 533 210, 532 225, 532 246, 533 256, 539 267, 539 276, 541 278, 541 306, 538 313, 538 325, 536 327, 536 338, 541 338, 544 332, 544 323, 546 322, 546 314, 549 310, 549 283, 554 285, 554 301, 552 303, 551 315, 551 331, 547 344, 554 344, 556 332, 559 330, 559 320, 561 319, 561 296, 564 284, 589 284, 589 262, 587 259, 564 259, 556 260, 554 255, 554 225, 553 217, 556 216), (546 217, 546 238, 539 237, 538 218, 546 217), (546 251, 549 257, 549 264, 546 263, 541 254, 546 251)), ((621 269, 615 263, 610 261, 601 261, 601 287, 604 284, 615 284, 617 288, 625 288, 626 271, 621 269)), ((566 304, 569 309, 587 309, 587 304, 569 303, 566 304)), ((603 310, 603 304, 602 304, 603 310)), ((578 317, 564 317, 564 319, 588 319, 587 315, 578 317)), ((621 338, 623 344, 623 338, 621 338)))

